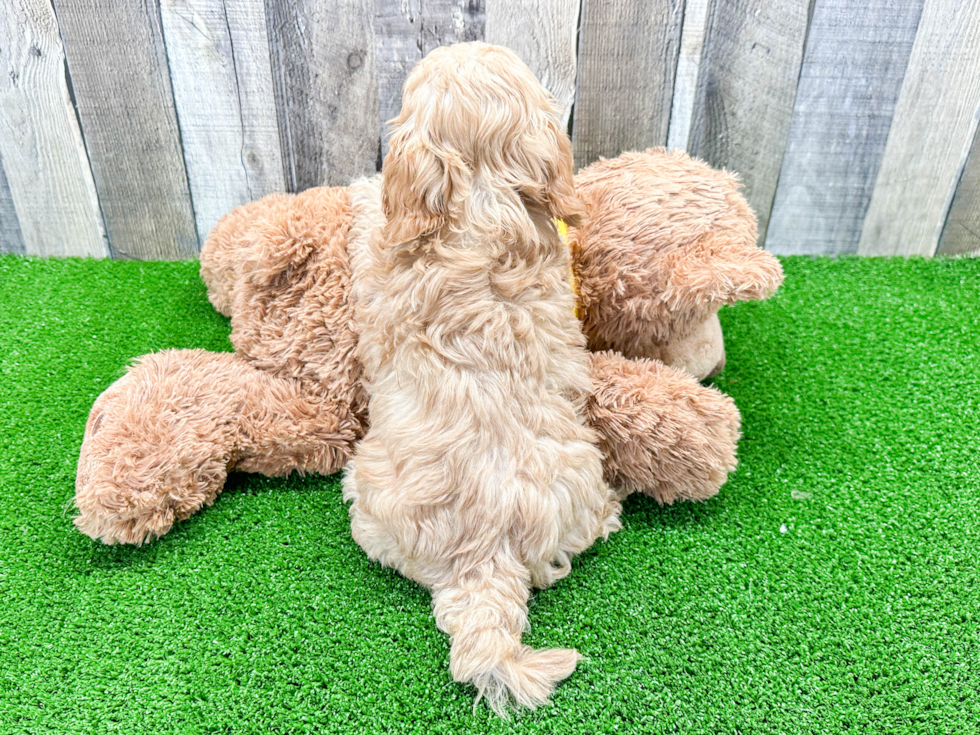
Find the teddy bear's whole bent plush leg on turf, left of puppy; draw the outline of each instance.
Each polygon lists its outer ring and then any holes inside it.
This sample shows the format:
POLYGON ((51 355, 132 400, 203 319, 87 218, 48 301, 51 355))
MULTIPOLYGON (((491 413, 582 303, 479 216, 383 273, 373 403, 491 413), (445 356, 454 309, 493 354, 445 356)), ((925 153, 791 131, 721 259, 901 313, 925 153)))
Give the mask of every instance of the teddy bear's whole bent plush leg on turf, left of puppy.
POLYGON ((318 386, 256 370, 236 355, 147 355, 92 407, 75 525, 107 544, 140 544, 213 503, 233 469, 339 470, 360 431, 318 386))

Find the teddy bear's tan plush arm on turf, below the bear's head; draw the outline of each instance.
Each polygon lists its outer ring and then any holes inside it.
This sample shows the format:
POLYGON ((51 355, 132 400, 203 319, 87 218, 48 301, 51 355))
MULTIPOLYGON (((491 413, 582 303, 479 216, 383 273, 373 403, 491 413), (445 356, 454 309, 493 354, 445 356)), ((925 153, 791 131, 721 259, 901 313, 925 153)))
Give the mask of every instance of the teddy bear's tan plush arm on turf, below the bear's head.
POLYGON ((655 360, 590 356, 586 407, 599 434, 606 480, 621 497, 707 500, 735 469, 740 417, 731 398, 655 360))

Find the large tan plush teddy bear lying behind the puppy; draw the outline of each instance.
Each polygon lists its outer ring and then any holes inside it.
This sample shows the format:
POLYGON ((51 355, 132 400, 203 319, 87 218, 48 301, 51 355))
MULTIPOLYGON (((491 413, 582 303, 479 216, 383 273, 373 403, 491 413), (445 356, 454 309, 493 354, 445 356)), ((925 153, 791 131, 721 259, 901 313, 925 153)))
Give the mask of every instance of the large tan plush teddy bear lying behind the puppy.
MULTIPOLYGON (((591 355, 587 419, 620 496, 704 500, 735 467, 739 415, 697 381, 724 365, 718 310, 782 281, 735 179, 651 149, 579 172, 568 245, 591 355)), ((75 524, 143 543, 210 505, 232 470, 330 474, 367 425, 349 300, 346 188, 274 194, 211 232, 201 276, 234 353, 141 358, 95 402, 75 524)))

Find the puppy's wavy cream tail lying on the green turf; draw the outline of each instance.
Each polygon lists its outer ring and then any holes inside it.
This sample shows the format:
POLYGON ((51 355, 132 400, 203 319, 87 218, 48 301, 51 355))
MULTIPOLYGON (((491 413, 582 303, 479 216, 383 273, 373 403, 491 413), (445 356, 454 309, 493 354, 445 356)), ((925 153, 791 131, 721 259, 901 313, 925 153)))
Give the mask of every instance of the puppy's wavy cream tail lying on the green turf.
POLYGON ((521 644, 527 583, 522 565, 498 556, 433 593, 436 623, 451 636, 453 678, 473 684, 477 703, 486 697, 501 717, 507 717, 511 703, 534 709, 547 702, 580 658, 573 649, 521 644))

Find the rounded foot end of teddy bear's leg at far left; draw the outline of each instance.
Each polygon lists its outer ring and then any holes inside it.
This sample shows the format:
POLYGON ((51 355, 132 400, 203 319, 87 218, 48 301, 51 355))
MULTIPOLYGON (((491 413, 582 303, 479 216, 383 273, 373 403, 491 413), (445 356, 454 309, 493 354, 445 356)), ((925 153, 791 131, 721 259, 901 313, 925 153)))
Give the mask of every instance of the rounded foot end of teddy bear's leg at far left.
POLYGON ((209 400, 215 371, 192 369, 207 358, 201 350, 147 355, 96 400, 75 478, 82 533, 141 544, 214 502, 234 424, 209 400))

